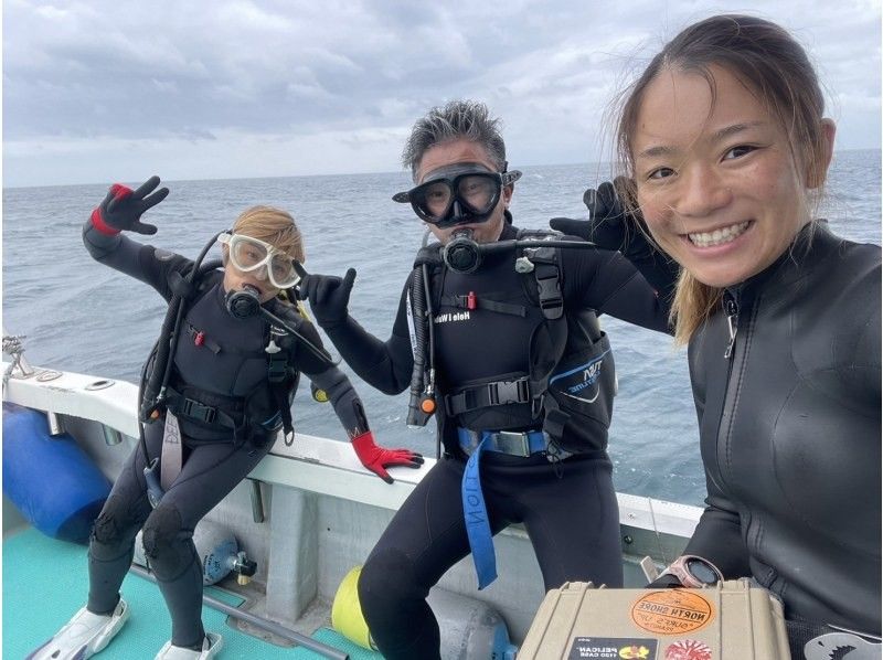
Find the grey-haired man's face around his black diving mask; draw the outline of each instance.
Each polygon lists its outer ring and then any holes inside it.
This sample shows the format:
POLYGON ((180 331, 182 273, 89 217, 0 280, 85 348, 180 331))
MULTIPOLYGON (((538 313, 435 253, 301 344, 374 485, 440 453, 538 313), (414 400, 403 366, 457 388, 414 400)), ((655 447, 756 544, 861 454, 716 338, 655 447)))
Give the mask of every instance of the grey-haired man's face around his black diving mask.
MULTIPOLYGON (((478 163, 487 168, 489 172, 497 171, 497 167, 481 145, 460 138, 440 142, 427 149, 423 158, 421 158, 421 163, 416 171, 416 182, 418 184, 423 183, 427 178, 430 178, 434 172, 458 163, 478 163)), ((503 231, 503 225, 506 224, 503 212, 509 206, 509 202, 512 199, 512 185, 506 185, 503 188, 500 194, 500 201, 491 212, 490 217, 485 222, 457 225, 456 227, 447 228, 439 228, 428 223, 427 226, 443 244, 450 239, 450 235, 455 231, 464 228, 472 230, 472 238, 478 243, 492 243, 500 237, 503 231)))

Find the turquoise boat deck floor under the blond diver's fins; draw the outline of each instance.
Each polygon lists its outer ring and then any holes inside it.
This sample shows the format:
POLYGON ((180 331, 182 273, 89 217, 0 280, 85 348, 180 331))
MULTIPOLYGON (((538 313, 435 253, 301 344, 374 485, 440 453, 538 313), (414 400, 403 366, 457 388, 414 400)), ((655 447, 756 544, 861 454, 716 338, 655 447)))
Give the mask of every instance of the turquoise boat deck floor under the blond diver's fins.
MULTIPOLYGON (((50 539, 33 528, 3 539, 3 658, 24 658, 85 604, 86 554, 85 546, 50 539)), ((153 658, 171 630, 162 596, 153 583, 132 573, 126 576, 121 593, 131 608, 131 618, 97 657, 153 658)), ((233 607, 247 606, 241 595, 222 588, 206 587, 206 594, 233 607)), ((220 657, 227 660, 322 658, 302 647, 278 646, 242 632, 224 614, 210 607, 203 607, 202 620, 206 631, 224 637, 220 657)), ((354 645, 329 627, 319 628, 312 638, 349 653, 352 660, 382 660, 380 653, 354 645)))

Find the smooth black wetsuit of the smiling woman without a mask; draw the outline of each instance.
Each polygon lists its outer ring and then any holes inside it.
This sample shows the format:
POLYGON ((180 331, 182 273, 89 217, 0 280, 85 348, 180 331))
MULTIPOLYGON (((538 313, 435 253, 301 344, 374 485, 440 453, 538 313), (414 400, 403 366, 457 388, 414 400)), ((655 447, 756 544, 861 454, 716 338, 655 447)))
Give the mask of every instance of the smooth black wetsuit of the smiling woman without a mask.
POLYGON ((880 247, 807 235, 690 341, 709 498, 687 553, 754 576, 791 621, 879 636, 880 247))

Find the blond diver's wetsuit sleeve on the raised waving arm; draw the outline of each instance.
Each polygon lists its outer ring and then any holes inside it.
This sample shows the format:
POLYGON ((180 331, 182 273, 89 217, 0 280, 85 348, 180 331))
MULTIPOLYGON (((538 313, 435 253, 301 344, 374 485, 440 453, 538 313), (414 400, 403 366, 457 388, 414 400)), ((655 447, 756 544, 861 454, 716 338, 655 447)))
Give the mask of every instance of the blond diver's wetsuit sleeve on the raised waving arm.
POLYGON ((172 297, 169 274, 185 270, 192 263, 181 255, 143 245, 123 234, 102 234, 92 220, 83 225, 83 244, 96 262, 150 285, 166 300, 172 297))

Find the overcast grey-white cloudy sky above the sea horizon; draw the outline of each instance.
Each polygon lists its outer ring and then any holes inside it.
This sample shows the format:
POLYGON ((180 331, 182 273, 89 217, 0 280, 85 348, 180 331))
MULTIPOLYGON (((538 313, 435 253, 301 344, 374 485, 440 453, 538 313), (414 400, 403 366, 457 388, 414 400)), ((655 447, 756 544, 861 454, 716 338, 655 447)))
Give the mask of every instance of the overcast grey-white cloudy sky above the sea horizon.
POLYGON ((789 29, 837 148, 880 148, 880 0, 3 0, 3 185, 395 171, 456 97, 514 167, 589 162, 623 81, 721 12, 789 29))

